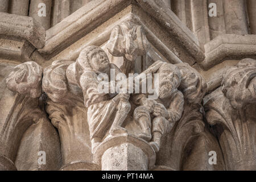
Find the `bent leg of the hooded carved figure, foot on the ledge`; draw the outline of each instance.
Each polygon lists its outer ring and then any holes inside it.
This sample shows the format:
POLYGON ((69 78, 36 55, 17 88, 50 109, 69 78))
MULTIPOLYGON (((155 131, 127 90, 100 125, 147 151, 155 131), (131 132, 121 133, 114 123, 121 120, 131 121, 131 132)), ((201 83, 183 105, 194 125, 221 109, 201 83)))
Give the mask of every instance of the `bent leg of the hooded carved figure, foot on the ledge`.
MULTIPOLYGON (((122 96, 121 96, 122 97, 122 96)), ((117 106, 117 113, 115 114, 114 122, 112 127, 109 130, 111 135, 113 134, 120 134, 120 133, 127 133, 127 130, 124 129, 122 126, 123 121, 125 121, 127 114, 131 110, 131 104, 129 100, 126 98, 121 98, 119 104, 117 106)))

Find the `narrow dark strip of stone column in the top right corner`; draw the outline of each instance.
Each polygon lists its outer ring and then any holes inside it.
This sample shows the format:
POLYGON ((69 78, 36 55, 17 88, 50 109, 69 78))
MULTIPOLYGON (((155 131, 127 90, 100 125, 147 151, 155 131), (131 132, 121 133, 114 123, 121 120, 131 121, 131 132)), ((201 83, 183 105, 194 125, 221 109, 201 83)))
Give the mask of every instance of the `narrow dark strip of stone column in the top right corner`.
POLYGON ((251 34, 256 34, 256 1, 247 0, 251 34))

